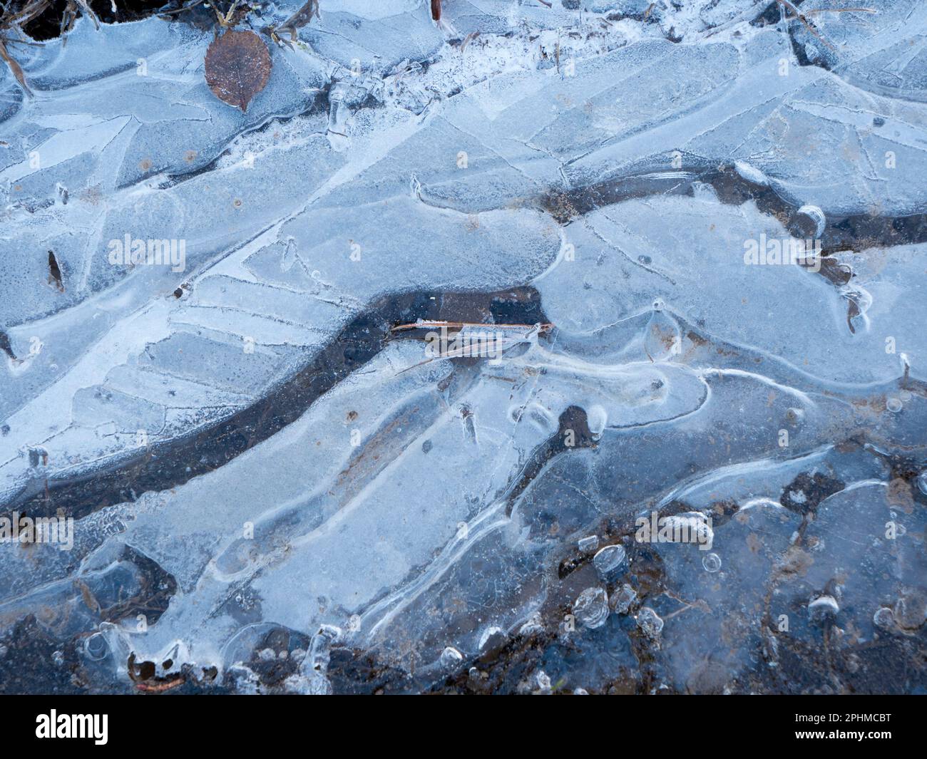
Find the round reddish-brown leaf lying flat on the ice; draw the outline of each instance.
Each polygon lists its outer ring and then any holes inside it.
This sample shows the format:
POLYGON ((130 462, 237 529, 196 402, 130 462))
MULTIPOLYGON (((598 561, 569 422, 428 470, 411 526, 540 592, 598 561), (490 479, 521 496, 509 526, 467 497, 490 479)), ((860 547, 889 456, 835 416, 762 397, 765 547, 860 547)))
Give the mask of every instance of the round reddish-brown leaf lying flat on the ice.
POLYGON ((225 32, 206 51, 206 83, 230 106, 248 110, 270 77, 271 54, 254 32, 225 32))

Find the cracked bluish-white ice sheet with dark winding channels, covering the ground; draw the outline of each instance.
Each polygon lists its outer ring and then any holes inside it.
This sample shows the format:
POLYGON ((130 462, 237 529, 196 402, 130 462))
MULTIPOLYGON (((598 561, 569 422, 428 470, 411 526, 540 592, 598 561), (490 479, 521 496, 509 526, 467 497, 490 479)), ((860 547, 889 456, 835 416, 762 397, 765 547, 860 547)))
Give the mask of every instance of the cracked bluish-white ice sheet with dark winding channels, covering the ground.
POLYGON ((927 687, 927 7, 427 5, 247 113, 183 20, 0 74, 0 512, 76 517, 0 543, 0 689, 927 687))

